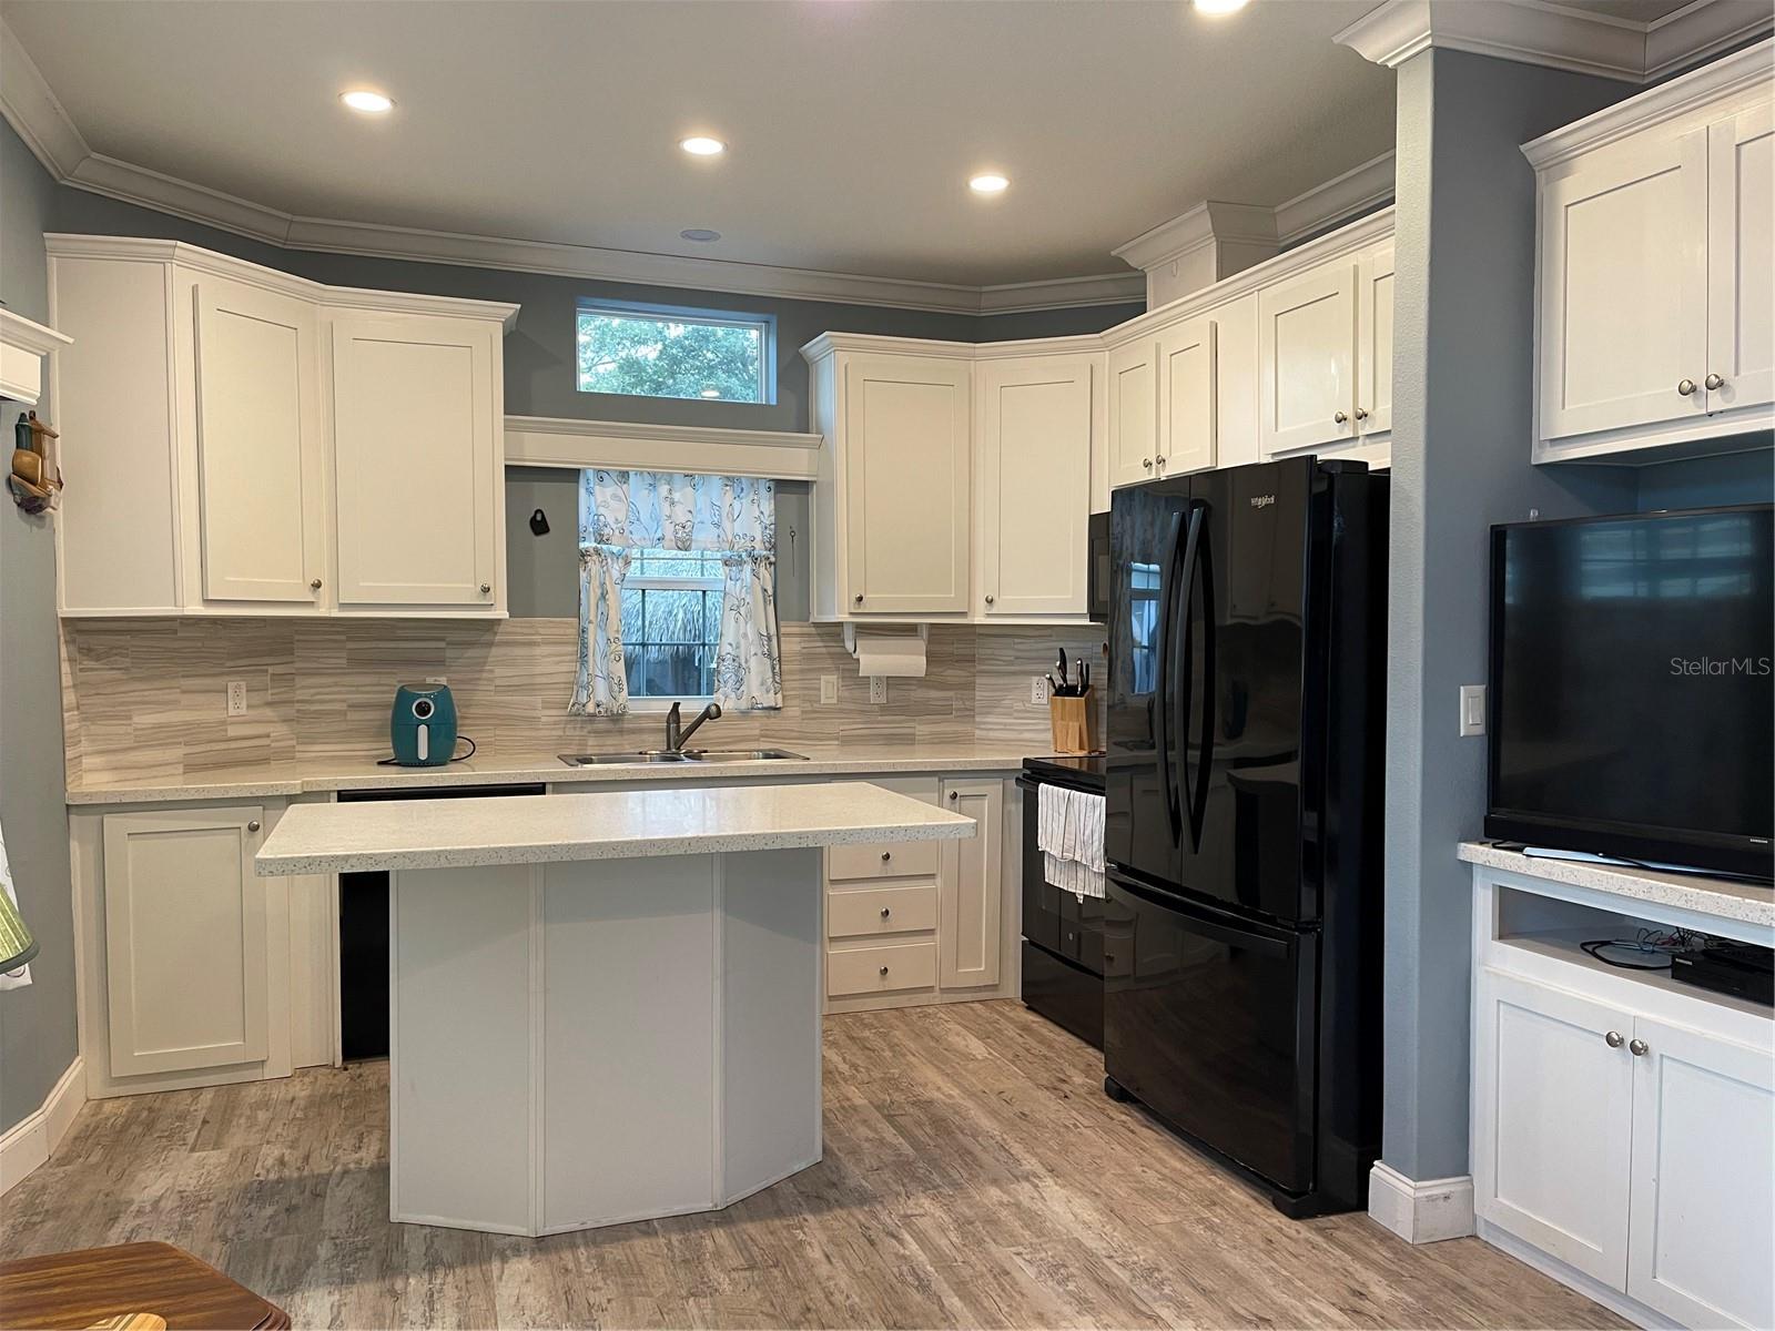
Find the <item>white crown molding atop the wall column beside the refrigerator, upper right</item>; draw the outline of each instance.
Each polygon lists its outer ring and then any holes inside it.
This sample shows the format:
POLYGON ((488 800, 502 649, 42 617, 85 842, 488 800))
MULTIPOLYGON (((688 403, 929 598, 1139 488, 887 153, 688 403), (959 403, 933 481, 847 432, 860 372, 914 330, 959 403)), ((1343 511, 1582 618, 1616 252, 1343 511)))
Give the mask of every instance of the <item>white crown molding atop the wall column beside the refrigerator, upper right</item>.
POLYGON ((1645 83, 1771 27, 1764 0, 1695 0, 1654 23, 1551 0, 1386 0, 1333 41, 1388 67, 1438 48, 1645 83))

